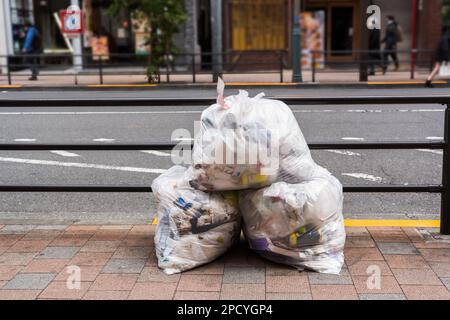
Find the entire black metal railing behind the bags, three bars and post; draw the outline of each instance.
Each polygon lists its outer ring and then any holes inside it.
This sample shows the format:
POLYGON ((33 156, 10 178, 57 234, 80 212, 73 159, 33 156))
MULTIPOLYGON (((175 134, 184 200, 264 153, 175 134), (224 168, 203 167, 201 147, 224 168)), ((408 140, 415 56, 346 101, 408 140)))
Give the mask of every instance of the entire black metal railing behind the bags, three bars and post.
MULTIPOLYGON (((312 150, 327 149, 442 149, 442 183, 437 185, 345 185, 344 192, 353 193, 439 193, 441 194, 442 234, 450 234, 450 95, 432 96, 349 96, 349 97, 277 97, 290 105, 346 105, 346 104, 442 104, 445 105, 444 135, 442 141, 393 141, 393 142, 351 142, 311 143, 312 150)), ((212 98, 192 99, 1 99, 1 107, 102 107, 102 106, 193 106, 209 105, 212 98)), ((186 142, 180 142, 186 144, 186 142)), ((190 144, 191 142, 189 142, 190 144)), ((37 150, 172 150, 179 143, 153 144, 0 144, 0 151, 37 150)), ((0 185, 0 192, 151 192, 148 185, 0 185)))

